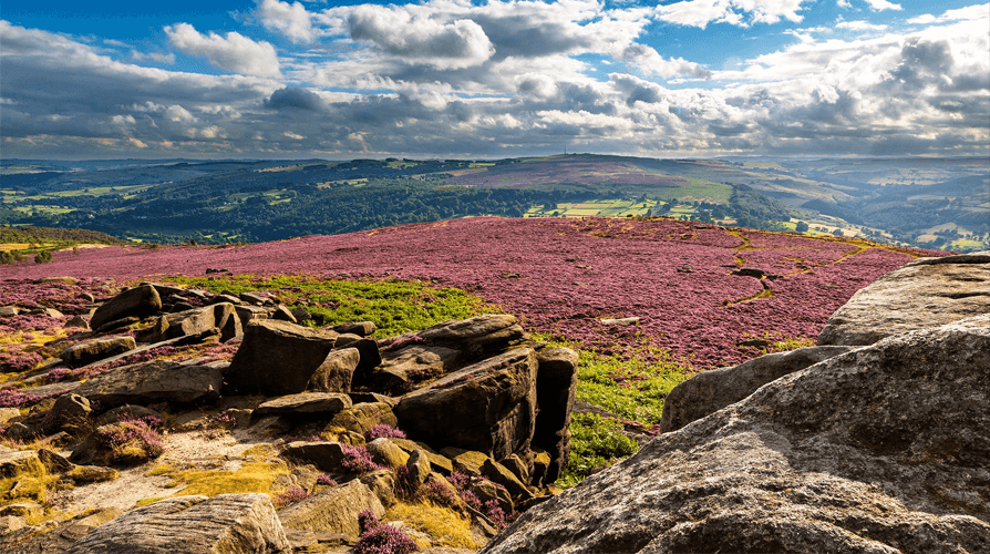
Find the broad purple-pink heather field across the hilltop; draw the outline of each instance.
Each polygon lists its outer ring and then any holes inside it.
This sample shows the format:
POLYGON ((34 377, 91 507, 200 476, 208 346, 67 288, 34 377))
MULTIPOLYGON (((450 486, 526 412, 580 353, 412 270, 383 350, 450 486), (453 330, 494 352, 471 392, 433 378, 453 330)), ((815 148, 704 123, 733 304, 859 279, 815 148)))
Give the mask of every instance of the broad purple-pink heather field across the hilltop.
MULTIPOLYGON (((84 248, 0 266, 0 279, 311 275, 412 279, 473 293, 545 337, 638 359, 669 350, 694 369, 813 340, 857 289, 911 256, 867 243, 670 219, 412 224, 226 247, 84 248), (760 269, 769 277, 733 275, 760 269), (606 318, 638 317, 635 326, 606 318)), ((6 283, 0 306, 16 304, 6 283)))

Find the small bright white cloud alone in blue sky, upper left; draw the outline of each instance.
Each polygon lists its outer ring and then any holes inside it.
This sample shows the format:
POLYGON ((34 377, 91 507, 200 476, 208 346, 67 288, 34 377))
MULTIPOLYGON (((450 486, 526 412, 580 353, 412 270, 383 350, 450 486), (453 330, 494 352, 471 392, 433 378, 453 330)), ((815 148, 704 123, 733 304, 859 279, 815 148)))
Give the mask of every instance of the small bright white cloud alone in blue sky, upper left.
POLYGON ((275 47, 268 42, 255 42, 234 31, 226 37, 199 34, 188 23, 166 27, 165 33, 173 47, 189 55, 206 58, 218 69, 245 75, 281 76, 275 47))

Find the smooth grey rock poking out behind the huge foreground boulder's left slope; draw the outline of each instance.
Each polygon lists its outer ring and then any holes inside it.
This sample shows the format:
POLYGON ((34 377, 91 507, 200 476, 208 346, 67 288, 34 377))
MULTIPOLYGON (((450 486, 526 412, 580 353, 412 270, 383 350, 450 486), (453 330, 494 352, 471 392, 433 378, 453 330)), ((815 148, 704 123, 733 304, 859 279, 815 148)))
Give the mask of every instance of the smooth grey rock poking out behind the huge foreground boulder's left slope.
POLYGON ((734 404, 764 384, 853 347, 807 347, 753 358, 731 368, 702 371, 673 388, 663 401, 660 431, 670 432, 734 404))

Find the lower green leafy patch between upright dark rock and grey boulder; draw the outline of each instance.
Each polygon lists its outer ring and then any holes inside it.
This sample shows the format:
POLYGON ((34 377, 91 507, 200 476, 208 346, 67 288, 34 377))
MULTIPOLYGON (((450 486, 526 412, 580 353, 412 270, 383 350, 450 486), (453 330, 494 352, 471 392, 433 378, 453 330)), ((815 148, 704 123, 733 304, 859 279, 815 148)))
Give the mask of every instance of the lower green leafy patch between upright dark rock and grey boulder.
POLYGON ((622 434, 622 423, 597 413, 575 413, 570 421, 570 459, 557 485, 567 489, 639 450, 622 434))

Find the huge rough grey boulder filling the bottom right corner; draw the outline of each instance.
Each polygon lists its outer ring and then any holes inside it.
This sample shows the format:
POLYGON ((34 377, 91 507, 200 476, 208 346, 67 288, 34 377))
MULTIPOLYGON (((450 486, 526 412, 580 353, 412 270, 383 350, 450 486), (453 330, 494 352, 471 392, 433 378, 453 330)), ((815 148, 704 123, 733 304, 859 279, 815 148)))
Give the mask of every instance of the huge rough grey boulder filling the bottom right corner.
POLYGON ((532 509, 487 554, 990 552, 990 316, 782 377, 532 509))

